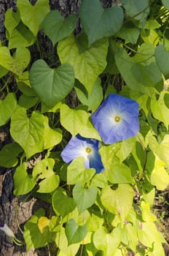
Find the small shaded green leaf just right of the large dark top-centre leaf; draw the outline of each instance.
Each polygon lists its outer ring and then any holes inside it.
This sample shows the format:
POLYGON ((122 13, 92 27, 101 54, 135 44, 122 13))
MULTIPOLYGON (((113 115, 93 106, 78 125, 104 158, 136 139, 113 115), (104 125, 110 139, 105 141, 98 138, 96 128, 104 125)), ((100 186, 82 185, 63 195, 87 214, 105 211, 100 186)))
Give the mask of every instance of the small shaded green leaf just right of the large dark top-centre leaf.
POLYGON ((135 44, 140 35, 140 29, 131 21, 127 21, 122 25, 122 28, 117 32, 118 37, 122 37, 122 39, 135 44))

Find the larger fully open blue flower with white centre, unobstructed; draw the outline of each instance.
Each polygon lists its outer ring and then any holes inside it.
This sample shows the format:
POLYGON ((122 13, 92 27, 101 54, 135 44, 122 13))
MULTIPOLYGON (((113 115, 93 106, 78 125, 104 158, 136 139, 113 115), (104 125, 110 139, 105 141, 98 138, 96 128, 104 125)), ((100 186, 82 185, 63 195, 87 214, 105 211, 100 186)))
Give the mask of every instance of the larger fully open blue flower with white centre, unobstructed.
POLYGON ((109 94, 93 113, 92 121, 103 142, 111 144, 137 135, 138 113, 139 105, 135 100, 109 94))

